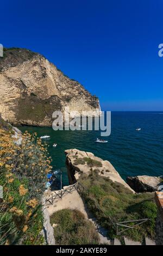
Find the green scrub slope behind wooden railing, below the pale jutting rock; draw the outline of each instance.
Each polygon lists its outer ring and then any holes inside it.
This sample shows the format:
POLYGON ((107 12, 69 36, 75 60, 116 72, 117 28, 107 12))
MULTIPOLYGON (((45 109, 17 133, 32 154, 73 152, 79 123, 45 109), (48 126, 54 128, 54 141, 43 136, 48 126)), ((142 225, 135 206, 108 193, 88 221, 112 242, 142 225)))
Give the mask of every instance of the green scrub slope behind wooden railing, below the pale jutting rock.
MULTIPOLYGON (((116 236, 116 227, 112 222, 118 223, 142 218, 149 218, 149 221, 137 225, 134 229, 124 231, 123 235, 135 241, 142 241, 143 236, 154 238, 157 211, 154 193, 133 194, 122 184, 112 182, 108 178, 98 175, 97 172, 91 172, 89 177, 85 174, 81 175, 79 182, 85 187, 83 198, 88 208, 98 222, 108 229, 110 238, 116 236)), ((128 224, 133 225, 131 222, 128 224)), ((120 236, 118 237, 121 239, 120 236)))

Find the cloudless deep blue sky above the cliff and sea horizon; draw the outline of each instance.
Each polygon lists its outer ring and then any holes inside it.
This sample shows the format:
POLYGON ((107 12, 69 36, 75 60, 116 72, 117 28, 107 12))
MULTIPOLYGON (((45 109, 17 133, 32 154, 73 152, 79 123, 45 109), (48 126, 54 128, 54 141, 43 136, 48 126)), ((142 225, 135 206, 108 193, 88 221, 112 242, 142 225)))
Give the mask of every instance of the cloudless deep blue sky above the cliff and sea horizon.
POLYGON ((1 1, 0 43, 40 52, 104 110, 163 110, 162 0, 1 1))

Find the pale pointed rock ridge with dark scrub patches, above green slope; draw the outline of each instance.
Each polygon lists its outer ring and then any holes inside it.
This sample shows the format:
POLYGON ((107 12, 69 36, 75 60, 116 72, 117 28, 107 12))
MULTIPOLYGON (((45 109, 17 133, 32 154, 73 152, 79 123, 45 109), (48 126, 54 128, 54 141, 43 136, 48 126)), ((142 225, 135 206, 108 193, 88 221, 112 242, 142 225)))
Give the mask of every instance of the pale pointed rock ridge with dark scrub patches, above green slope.
POLYGON ((81 174, 89 175, 91 172, 98 172, 99 175, 109 178, 114 182, 119 182, 135 193, 109 161, 104 161, 90 152, 78 149, 65 150, 65 154, 70 184, 77 182, 81 174))

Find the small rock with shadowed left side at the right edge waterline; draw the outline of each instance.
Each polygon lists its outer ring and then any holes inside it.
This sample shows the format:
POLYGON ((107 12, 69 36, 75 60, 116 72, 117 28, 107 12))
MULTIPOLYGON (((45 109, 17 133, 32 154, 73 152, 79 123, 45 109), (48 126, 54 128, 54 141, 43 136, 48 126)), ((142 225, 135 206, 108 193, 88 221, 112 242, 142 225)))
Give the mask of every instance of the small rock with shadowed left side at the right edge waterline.
POLYGON ((133 188, 133 190, 137 193, 140 192, 153 192, 159 189, 159 186, 161 183, 160 177, 154 177, 154 176, 133 176, 133 177, 127 177, 127 184, 133 188))

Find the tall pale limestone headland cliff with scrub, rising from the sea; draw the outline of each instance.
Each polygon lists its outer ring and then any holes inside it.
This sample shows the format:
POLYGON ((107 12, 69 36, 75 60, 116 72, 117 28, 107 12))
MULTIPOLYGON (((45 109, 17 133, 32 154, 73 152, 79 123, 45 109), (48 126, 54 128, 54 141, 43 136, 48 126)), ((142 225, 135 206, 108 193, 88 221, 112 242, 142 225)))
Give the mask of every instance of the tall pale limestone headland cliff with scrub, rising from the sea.
POLYGON ((99 101, 38 53, 5 49, 0 58, 0 113, 11 124, 51 126, 52 113, 95 111, 99 101))

